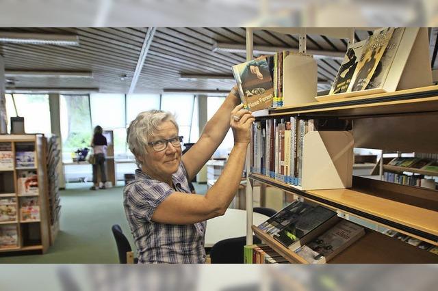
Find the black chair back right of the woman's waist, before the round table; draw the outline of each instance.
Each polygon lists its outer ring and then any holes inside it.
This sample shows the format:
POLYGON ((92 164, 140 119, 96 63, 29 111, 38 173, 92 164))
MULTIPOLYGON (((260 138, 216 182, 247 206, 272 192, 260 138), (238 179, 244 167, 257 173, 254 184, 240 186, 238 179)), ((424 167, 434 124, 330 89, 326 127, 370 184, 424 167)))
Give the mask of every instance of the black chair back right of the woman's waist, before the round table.
MULTIPOLYGON (((253 236, 253 243, 259 244, 261 240, 253 236)), ((245 245, 246 236, 218 241, 210 250, 211 264, 243 264, 245 245)))

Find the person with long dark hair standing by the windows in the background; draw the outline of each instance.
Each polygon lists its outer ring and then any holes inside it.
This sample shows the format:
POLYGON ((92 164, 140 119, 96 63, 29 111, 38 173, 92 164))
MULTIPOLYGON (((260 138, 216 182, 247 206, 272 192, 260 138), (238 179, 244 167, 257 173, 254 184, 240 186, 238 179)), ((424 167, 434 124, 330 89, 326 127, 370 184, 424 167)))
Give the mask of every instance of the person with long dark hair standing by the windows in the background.
POLYGON ((105 156, 107 155, 107 138, 103 136, 103 129, 101 126, 96 126, 94 128, 94 135, 91 142, 94 154, 93 163, 93 183, 94 185, 90 190, 105 189, 105 182, 107 182, 107 175, 105 169, 105 156), (101 182, 102 186, 99 187, 99 181, 97 180, 97 173, 101 172, 101 182))

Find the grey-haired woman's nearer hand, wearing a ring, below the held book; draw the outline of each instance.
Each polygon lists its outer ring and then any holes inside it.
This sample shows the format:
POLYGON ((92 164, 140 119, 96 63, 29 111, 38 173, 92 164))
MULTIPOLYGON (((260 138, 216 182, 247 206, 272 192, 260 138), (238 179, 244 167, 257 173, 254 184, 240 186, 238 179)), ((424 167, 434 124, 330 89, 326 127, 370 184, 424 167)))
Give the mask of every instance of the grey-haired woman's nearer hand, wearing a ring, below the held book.
POLYGON ((250 142, 250 128, 255 121, 255 117, 250 111, 243 109, 244 105, 237 105, 231 111, 230 125, 233 129, 234 143, 250 142))

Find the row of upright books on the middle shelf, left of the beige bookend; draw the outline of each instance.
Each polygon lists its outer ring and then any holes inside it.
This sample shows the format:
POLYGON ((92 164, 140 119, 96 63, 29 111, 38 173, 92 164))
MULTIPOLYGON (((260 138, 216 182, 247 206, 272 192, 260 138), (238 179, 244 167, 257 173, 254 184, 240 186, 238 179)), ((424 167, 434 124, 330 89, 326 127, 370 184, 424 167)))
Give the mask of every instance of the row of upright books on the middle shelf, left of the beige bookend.
POLYGON ((251 139, 251 171, 287 184, 301 185, 304 136, 315 130, 348 130, 347 120, 298 117, 257 120, 251 139))

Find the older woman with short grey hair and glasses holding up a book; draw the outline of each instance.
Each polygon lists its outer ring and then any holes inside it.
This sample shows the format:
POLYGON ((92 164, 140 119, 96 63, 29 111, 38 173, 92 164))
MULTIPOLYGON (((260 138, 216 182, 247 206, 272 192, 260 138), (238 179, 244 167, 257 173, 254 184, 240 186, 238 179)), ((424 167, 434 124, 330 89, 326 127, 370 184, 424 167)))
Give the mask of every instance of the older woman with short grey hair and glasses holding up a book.
POLYGON ((239 103, 234 87, 183 156, 182 138, 170 113, 146 111, 131 122, 127 142, 140 169, 136 180, 125 186, 124 206, 140 263, 205 262, 205 221, 223 215, 237 191, 255 120, 239 103), (188 182, 230 126, 234 146, 222 175, 205 196, 190 193, 188 182))

